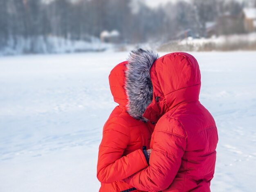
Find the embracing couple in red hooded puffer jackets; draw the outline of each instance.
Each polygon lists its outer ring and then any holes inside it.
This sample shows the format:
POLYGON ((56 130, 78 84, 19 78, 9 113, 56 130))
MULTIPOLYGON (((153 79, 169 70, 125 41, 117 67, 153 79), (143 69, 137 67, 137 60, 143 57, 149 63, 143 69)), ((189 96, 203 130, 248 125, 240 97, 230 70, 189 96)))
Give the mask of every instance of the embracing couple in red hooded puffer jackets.
POLYGON ((209 192, 218 133, 199 102, 197 60, 131 51, 109 75, 119 105, 103 127, 100 192, 209 192))

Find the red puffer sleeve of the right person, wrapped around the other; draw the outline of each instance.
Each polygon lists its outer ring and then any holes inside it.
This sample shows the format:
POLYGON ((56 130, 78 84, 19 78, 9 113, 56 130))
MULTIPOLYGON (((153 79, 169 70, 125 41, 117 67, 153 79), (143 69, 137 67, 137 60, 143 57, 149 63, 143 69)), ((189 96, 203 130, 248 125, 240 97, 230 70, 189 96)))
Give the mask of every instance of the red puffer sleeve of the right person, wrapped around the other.
POLYGON ((138 190, 162 191, 168 188, 180 168, 186 149, 186 132, 177 120, 165 118, 157 122, 154 132, 149 167, 124 179, 138 190))

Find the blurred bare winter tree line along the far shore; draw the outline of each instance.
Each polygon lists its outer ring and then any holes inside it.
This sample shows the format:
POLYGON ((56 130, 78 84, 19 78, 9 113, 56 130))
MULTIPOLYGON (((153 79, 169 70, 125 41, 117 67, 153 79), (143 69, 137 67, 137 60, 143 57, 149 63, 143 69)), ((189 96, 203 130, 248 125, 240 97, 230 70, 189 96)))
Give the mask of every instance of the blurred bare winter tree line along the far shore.
POLYGON ((244 6, 235 0, 180 0, 155 9, 141 0, 0 0, 0 48, 20 37, 90 40, 113 29, 128 43, 171 40, 186 29, 204 36, 207 22, 244 6))

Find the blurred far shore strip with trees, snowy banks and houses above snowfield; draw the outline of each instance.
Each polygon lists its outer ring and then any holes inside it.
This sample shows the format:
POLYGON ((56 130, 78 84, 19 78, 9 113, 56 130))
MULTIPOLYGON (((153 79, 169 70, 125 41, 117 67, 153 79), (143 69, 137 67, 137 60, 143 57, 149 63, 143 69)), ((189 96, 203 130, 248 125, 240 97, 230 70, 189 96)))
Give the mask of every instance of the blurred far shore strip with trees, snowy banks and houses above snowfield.
POLYGON ((0 54, 256 49, 256 0, 0 0, 0 54))

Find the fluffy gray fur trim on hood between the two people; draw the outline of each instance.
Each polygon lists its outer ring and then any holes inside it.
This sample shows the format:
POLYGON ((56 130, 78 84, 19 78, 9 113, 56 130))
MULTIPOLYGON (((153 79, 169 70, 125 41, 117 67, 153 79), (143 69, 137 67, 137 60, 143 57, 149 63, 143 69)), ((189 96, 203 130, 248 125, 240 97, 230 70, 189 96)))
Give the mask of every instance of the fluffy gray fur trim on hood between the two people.
POLYGON ((155 51, 137 49, 130 52, 126 70, 128 113, 135 119, 148 121, 142 115, 153 99, 150 68, 159 58, 155 51))

